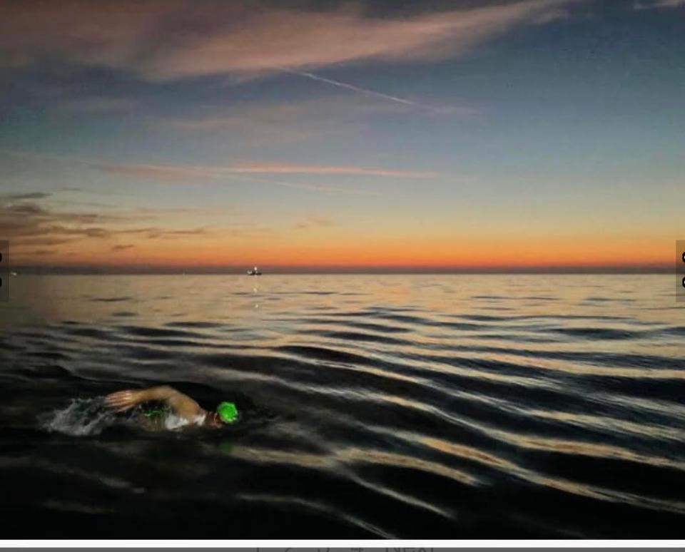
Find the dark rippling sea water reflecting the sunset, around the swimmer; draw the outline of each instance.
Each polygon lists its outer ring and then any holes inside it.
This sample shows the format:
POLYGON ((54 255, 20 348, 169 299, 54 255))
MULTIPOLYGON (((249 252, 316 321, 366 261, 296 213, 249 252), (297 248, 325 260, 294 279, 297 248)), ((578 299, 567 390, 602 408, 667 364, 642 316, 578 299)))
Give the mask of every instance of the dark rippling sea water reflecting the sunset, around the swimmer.
POLYGON ((3 538, 683 538, 684 307, 669 275, 19 275, 3 538), (242 418, 103 407, 162 383, 242 418))

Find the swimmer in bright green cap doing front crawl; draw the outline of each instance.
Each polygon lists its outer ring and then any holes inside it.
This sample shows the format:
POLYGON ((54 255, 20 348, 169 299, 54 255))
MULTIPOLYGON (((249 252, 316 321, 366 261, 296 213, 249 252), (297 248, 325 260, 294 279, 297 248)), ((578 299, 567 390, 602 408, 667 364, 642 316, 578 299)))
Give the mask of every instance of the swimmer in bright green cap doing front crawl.
POLYGON ((225 424, 233 424, 238 420, 238 409, 232 402, 222 402, 214 412, 208 412, 191 397, 168 385, 139 390, 126 389, 105 397, 105 404, 116 412, 126 412, 146 402, 161 403, 164 409, 153 409, 149 413, 143 412, 144 416, 171 412, 180 422, 175 426, 194 425, 218 428, 225 424))

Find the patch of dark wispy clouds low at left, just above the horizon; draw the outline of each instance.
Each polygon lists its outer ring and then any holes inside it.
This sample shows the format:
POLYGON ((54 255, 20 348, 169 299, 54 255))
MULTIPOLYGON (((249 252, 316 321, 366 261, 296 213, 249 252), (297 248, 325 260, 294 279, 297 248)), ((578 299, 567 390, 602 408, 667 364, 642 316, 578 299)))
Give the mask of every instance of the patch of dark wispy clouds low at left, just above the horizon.
POLYGON ((98 213, 58 210, 49 198, 16 196, 0 196, 0 236, 11 241, 15 262, 25 265, 68 264, 78 257, 104 264, 131 262, 133 257, 151 260, 157 254, 173 255, 176 247, 199 250, 225 240, 263 240, 270 234, 270 228, 245 224, 235 210, 220 211, 218 206, 98 213), (200 218, 201 225, 183 225, 180 218, 185 215, 200 218), (136 255, 131 257, 127 252, 133 249, 136 255))

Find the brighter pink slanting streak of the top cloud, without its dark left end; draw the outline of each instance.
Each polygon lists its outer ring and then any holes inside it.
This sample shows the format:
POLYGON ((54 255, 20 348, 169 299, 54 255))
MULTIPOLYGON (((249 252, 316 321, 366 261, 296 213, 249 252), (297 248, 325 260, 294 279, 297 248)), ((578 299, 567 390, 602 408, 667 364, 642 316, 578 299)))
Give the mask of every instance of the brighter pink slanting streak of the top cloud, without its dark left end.
MULTIPOLYGON (((302 70, 365 60, 446 58, 549 9, 549 0, 519 1, 389 19, 358 7, 333 11, 262 9, 217 14, 196 10, 200 38, 149 56, 140 70, 151 78, 302 70), (202 13, 203 12, 203 13, 202 13), (208 17, 217 17, 208 24, 208 17)), ((181 41, 183 42, 183 41, 181 41)))

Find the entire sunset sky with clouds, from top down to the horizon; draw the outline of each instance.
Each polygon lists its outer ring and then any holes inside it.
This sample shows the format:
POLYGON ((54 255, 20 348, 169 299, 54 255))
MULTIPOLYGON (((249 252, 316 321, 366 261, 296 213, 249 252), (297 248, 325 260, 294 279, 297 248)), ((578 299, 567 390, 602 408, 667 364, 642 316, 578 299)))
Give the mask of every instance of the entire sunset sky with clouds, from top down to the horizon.
POLYGON ((17 267, 671 266, 685 0, 2 0, 17 267))

